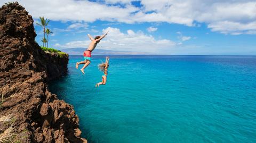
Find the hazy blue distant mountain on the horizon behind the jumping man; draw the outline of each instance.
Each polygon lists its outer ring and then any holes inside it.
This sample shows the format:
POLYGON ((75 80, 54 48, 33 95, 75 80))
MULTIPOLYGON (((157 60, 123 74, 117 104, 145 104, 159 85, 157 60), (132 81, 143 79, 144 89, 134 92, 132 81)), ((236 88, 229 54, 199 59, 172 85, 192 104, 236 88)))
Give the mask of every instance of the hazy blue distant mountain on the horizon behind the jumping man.
MULTIPOLYGON (((61 49, 62 52, 68 53, 69 55, 83 55, 86 48, 66 48, 61 49)), ((93 51, 95 55, 147 55, 150 53, 146 52, 131 52, 131 51, 111 51, 108 49, 97 49, 93 51)))

